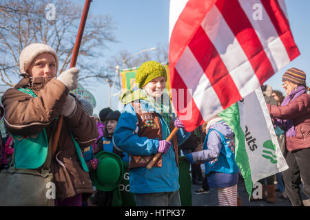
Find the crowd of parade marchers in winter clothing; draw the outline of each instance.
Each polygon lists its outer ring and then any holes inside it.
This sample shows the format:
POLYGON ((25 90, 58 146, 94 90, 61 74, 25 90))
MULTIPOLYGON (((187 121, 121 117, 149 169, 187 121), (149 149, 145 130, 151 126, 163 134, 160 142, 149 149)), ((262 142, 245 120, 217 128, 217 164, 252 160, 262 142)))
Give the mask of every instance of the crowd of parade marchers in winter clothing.
MULTIPOLYGON (((90 102, 70 94, 78 86, 79 69, 56 76, 59 61, 52 47, 28 45, 19 63, 22 78, 2 97, 0 113, 8 137, 1 139, 0 166, 41 171, 51 156, 54 206, 181 206, 180 157, 190 164, 192 184, 201 185, 196 195, 216 188, 219 206, 241 206, 234 132, 218 115, 187 132, 164 92, 167 72, 161 63, 143 63, 136 72, 139 89, 120 98, 123 110, 107 107, 99 118, 93 116, 90 102), (59 140, 50 145, 59 115, 59 140)), ((260 180, 262 199, 268 203, 276 203, 277 188, 292 206, 302 206, 301 182, 310 198, 310 96, 305 79, 302 70, 291 68, 282 76, 286 96, 269 85, 261 87, 289 165, 283 173, 260 180)))

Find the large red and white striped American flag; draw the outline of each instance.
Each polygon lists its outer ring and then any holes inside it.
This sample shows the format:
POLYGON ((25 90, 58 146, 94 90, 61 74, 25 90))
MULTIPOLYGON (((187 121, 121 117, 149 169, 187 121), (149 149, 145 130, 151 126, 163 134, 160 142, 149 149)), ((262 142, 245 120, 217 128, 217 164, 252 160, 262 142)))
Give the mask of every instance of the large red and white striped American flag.
POLYGON ((170 0, 172 102, 187 131, 300 54, 286 14, 285 0, 170 0))

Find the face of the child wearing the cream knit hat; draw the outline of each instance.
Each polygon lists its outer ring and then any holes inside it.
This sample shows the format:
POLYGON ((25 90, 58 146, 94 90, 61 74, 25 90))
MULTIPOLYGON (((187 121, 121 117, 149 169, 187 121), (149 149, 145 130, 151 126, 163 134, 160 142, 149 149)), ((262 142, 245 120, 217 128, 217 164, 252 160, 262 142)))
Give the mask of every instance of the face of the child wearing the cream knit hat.
POLYGON ((56 76, 56 61, 52 54, 44 53, 40 54, 27 70, 29 76, 45 76, 52 77, 56 76))

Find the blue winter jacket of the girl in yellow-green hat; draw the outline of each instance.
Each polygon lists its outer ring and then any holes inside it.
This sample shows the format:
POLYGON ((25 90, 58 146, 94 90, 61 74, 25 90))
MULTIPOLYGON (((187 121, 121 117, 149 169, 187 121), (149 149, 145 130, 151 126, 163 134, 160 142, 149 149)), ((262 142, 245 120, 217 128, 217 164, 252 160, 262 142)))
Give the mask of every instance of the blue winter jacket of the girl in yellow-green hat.
MULTIPOLYGON (((148 104, 147 100, 140 100, 140 102, 143 110, 155 112, 152 104, 148 104)), ((158 115, 161 125, 167 126, 162 115, 158 115)), ((134 107, 132 104, 126 104, 113 133, 114 145, 130 155, 148 156, 157 153, 158 138, 139 137, 137 124, 138 119, 134 107)), ((165 137, 165 129, 161 129, 161 131, 165 137)), ((185 142, 189 135, 190 133, 183 129, 178 129, 178 145, 185 142)), ((130 169, 130 192, 132 193, 175 192, 179 187, 178 166, 176 165, 173 143, 167 153, 163 154, 162 167, 130 169)))

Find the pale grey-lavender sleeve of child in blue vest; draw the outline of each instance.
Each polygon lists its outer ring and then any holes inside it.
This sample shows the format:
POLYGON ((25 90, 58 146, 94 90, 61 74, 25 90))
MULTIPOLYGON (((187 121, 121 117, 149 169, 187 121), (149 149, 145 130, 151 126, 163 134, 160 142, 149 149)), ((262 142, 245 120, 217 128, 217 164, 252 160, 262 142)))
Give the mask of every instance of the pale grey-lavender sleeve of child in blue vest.
POLYGON ((211 131, 208 140, 207 136, 205 138, 203 148, 207 147, 207 149, 192 153, 194 162, 209 162, 220 155, 220 148, 222 148, 220 135, 216 131, 211 131))

